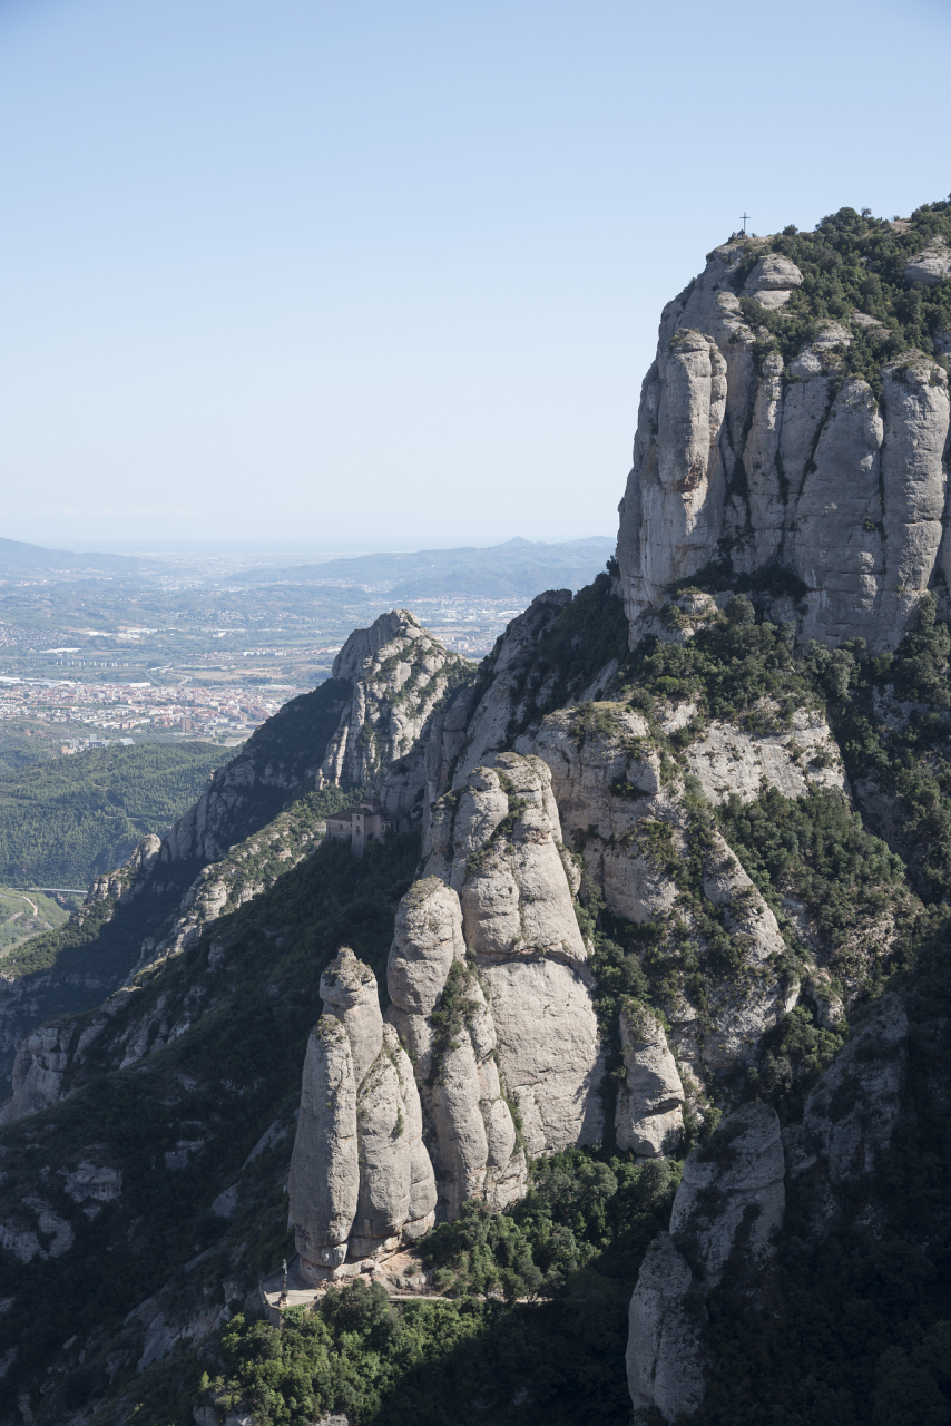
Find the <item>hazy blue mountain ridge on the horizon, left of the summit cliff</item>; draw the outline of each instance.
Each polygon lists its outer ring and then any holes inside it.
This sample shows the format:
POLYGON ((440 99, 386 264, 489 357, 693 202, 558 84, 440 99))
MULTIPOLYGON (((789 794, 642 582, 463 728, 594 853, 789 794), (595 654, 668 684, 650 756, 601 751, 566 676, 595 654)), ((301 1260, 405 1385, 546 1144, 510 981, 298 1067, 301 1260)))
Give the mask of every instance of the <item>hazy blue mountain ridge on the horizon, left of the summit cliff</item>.
POLYGON ((322 565, 251 569, 242 585, 321 585, 386 593, 395 605, 413 599, 532 599, 543 589, 580 589, 605 568, 615 540, 603 535, 546 545, 510 539, 486 549, 422 549, 413 555, 361 555, 322 565))

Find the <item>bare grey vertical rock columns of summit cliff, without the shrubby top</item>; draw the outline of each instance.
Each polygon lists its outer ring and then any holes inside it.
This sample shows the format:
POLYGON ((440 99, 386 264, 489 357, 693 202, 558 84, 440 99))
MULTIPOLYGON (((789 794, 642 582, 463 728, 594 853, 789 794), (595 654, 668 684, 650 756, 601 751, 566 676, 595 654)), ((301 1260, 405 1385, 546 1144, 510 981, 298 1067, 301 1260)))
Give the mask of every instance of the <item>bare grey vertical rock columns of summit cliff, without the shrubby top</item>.
MULTIPOLYGON (((776 351, 757 361, 757 331, 734 289, 746 251, 711 252, 662 315, 620 503, 632 647, 669 588, 710 563, 797 576, 803 639, 894 646, 951 560, 947 374, 908 351, 883 368, 881 399, 861 378, 837 379, 836 352, 868 322, 863 314, 820 324, 788 366, 776 351)), ((935 264, 947 265, 944 250, 913 277, 927 281, 935 264)), ((777 309, 798 284, 793 262, 766 254, 743 292, 777 309)))

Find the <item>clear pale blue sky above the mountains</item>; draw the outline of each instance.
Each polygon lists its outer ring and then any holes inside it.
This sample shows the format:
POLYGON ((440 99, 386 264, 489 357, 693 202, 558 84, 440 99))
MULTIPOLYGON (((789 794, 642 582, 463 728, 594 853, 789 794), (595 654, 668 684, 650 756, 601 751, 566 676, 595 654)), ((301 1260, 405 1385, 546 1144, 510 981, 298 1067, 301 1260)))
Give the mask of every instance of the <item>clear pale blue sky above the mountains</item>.
POLYGON ((947 195, 947 6, 0 0, 0 533, 613 533, 739 225, 947 195))

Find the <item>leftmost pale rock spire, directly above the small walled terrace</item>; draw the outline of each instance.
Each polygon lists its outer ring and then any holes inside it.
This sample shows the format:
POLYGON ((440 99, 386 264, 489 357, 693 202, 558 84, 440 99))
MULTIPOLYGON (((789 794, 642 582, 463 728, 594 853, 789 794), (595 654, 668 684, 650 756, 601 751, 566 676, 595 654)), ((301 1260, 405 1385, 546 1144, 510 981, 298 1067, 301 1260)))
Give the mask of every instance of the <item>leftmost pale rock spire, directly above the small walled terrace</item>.
POLYGON ((369 967, 342 950, 321 977, 288 1191, 301 1269, 354 1276, 435 1219, 412 1064, 379 1010, 369 967))

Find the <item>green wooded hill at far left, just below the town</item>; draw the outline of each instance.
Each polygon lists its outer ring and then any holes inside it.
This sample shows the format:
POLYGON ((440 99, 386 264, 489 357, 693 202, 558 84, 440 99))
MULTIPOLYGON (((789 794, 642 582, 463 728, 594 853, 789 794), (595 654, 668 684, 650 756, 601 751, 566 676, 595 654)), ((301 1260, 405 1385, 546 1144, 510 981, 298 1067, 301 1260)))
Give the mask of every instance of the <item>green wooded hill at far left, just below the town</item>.
POLYGON ((208 743, 101 747, 0 781, 0 884, 84 887, 161 834, 201 794, 208 743))

